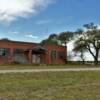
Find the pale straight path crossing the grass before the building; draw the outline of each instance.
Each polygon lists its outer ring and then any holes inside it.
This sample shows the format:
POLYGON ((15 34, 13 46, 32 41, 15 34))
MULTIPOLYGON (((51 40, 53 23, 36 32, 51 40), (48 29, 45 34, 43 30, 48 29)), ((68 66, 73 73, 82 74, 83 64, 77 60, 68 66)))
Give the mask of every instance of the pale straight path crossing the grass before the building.
POLYGON ((0 74, 6 73, 39 73, 39 72, 80 72, 100 71, 100 68, 64 68, 64 69, 21 69, 21 70, 0 70, 0 74))

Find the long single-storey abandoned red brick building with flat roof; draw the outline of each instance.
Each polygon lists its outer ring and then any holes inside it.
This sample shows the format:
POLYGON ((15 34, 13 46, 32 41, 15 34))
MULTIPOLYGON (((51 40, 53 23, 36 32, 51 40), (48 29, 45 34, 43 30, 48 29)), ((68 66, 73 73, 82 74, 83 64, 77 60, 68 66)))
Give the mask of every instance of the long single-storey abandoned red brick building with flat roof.
POLYGON ((0 63, 64 64, 65 58, 65 46, 0 40, 0 63))

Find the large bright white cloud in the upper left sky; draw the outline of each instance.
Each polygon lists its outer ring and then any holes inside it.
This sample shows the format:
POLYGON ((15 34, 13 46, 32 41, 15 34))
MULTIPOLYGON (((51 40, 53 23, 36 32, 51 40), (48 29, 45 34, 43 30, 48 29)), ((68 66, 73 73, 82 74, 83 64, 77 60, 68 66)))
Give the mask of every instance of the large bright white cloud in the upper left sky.
POLYGON ((18 17, 36 14, 52 0, 0 0, 0 21, 12 22, 18 17))

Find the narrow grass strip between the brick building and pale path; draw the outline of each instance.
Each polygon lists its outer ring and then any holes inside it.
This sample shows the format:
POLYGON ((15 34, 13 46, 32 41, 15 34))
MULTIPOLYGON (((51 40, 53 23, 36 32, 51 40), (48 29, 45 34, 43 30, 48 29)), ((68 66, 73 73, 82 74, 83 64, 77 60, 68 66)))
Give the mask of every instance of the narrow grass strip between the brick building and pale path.
POLYGON ((92 68, 100 65, 82 65, 82 64, 65 64, 65 65, 30 65, 30 64, 2 64, 0 69, 47 69, 47 68, 92 68))

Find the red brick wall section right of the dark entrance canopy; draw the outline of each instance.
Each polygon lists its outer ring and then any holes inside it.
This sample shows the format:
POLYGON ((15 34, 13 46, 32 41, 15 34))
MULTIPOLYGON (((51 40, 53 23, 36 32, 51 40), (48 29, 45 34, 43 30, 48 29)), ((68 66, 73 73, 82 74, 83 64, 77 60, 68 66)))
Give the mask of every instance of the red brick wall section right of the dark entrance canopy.
POLYGON ((67 58, 67 47, 55 46, 55 45, 44 45, 47 48, 45 54, 45 63, 48 64, 64 64, 67 58))

